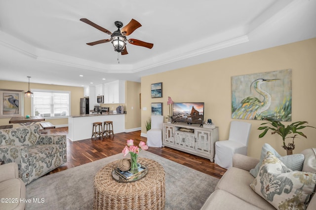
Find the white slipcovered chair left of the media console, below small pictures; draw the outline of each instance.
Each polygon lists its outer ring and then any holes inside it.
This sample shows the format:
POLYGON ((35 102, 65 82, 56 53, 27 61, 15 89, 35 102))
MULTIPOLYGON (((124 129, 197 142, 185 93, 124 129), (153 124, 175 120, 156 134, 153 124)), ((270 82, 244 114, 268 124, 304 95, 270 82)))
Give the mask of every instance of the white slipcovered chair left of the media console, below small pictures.
POLYGON ((152 115, 151 129, 147 131, 147 146, 162 147, 162 115, 152 115))

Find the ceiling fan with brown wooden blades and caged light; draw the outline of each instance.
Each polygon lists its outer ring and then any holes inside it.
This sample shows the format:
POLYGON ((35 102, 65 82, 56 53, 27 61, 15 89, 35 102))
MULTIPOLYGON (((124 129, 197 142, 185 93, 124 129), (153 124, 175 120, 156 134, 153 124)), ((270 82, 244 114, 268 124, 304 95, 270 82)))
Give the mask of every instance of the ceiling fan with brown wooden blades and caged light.
POLYGON ((130 38, 130 39, 126 39, 126 36, 127 35, 130 35, 132 34, 136 29, 138 29, 139 27, 141 27, 142 25, 132 19, 126 26, 123 26, 123 23, 120 22, 120 21, 115 21, 115 26, 118 28, 117 31, 111 33, 110 31, 108 31, 107 29, 104 29, 102 28, 101 26, 91 22, 90 20, 86 19, 86 18, 81 18, 80 21, 86 23, 86 24, 89 24, 90 26, 108 34, 108 35, 111 35, 111 39, 101 39, 101 40, 98 40, 98 41, 93 41, 93 42, 90 42, 90 43, 86 43, 90 46, 93 46, 95 44, 101 44, 101 43, 106 43, 106 42, 109 42, 111 41, 113 46, 114 46, 114 50, 117 51, 118 53, 120 52, 121 55, 126 55, 128 54, 127 50, 126 50, 126 41, 128 41, 128 43, 130 44, 134 44, 134 45, 138 45, 138 46, 142 46, 142 47, 147 47, 149 49, 153 48, 154 44, 152 43, 148 43, 148 42, 145 42, 145 41, 141 41, 141 40, 138 40, 138 39, 134 39, 134 38, 130 38), (120 30, 120 28, 122 28, 120 30))

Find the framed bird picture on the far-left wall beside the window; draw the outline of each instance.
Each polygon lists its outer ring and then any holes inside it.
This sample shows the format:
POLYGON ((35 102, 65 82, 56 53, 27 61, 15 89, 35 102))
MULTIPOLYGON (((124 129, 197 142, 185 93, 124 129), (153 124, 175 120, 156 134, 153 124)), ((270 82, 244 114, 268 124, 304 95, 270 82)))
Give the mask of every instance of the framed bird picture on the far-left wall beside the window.
POLYGON ((23 90, 0 89, 0 118, 23 116, 23 90))

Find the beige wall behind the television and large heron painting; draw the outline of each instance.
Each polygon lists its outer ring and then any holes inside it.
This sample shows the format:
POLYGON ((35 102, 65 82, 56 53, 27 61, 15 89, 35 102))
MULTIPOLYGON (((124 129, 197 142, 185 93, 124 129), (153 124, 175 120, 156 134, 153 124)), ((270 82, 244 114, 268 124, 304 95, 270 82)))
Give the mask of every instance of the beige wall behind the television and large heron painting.
MULTIPOLYGON (((172 70, 142 77, 142 133, 146 133, 145 122, 151 115, 151 103, 163 103, 163 115, 168 113, 167 98, 174 102, 204 102, 205 119, 211 118, 219 126, 219 139, 227 140, 231 118, 231 76, 292 69, 292 121, 309 122, 316 127, 316 38, 260 50, 252 53, 221 59, 196 66, 172 70), (152 83, 163 83, 163 98, 151 98, 152 83)), ((248 155, 259 158, 262 145, 267 142, 281 154, 281 137, 266 135, 257 128, 263 121, 243 120, 252 124, 248 144, 248 155)), ((286 123, 285 124, 290 124, 286 123)), ((316 129, 306 128, 295 140, 293 153, 316 147, 316 129)))

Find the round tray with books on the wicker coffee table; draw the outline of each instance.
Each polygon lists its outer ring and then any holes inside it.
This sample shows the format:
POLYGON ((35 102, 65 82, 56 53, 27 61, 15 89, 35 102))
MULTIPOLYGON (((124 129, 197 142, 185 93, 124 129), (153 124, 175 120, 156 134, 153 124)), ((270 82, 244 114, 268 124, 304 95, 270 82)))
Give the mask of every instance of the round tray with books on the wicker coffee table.
POLYGON ((112 171, 112 177, 118 182, 133 182, 133 181, 138 181, 141 178, 145 177, 147 173, 148 173, 147 167, 139 164, 138 172, 136 174, 132 174, 129 171, 122 172, 118 168, 115 168, 112 171))

